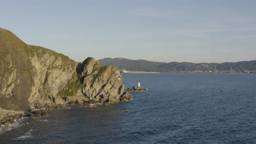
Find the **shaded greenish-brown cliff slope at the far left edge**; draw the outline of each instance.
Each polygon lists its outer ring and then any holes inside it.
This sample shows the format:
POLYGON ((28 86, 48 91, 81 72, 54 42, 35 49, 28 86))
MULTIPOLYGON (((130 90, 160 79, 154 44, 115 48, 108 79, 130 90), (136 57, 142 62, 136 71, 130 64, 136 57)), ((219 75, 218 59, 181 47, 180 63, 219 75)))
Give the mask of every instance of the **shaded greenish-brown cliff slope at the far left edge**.
POLYGON ((0 105, 4 109, 29 107, 32 65, 25 45, 13 33, 0 29, 0 105))

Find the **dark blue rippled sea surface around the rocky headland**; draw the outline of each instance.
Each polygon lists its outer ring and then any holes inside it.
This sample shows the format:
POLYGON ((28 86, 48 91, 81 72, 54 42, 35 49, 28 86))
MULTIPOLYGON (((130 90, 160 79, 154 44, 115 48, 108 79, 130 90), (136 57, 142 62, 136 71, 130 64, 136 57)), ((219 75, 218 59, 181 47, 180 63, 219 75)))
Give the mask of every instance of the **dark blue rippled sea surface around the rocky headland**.
POLYGON ((256 143, 256 74, 123 75, 138 81, 131 101, 23 118, 0 143, 256 143))

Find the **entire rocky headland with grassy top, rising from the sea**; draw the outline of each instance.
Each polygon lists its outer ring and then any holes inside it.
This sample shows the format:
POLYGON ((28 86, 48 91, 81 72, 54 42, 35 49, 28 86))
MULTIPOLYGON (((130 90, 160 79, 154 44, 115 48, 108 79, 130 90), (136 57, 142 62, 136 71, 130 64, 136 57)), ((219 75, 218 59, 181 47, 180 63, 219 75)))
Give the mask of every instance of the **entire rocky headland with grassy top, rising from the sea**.
POLYGON ((0 28, 0 107, 30 110, 63 104, 130 100, 115 67, 94 58, 81 64, 67 56, 27 45, 0 28))

